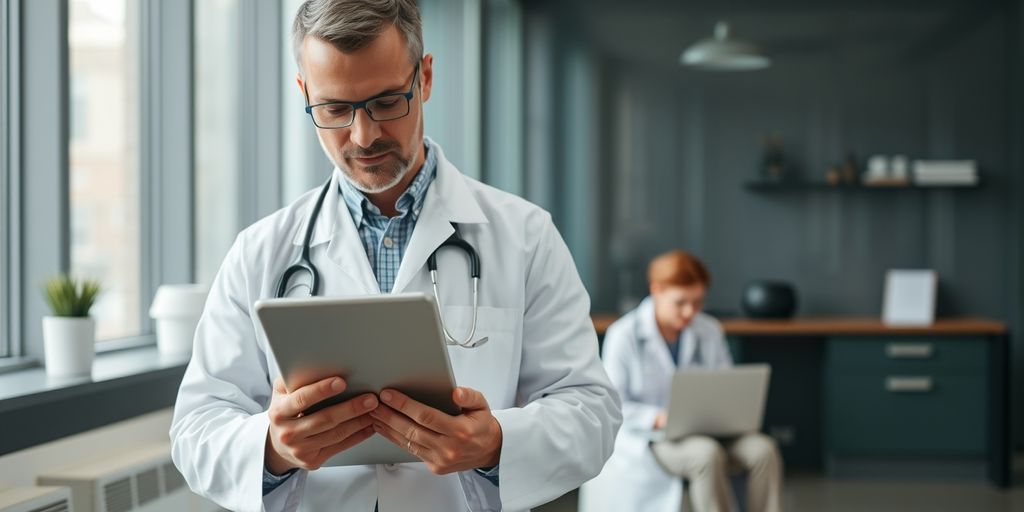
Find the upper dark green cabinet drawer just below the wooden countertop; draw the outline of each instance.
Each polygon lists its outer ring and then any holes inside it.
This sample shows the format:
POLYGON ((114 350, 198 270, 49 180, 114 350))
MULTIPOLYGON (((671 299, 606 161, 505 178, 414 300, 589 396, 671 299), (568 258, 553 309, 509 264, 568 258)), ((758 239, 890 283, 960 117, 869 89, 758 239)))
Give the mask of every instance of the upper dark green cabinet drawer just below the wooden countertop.
POLYGON ((829 371, 844 373, 981 375, 988 367, 988 350, 984 338, 844 337, 828 340, 825 364, 829 371))

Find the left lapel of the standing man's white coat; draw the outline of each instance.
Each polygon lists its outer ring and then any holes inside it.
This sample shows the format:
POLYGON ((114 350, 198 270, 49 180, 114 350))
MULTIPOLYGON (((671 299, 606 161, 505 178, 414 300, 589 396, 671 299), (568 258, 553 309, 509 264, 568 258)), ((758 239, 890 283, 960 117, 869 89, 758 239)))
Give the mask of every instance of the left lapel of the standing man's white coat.
MULTIPOLYGON (((345 179, 341 176, 341 170, 335 168, 332 179, 334 188, 328 191, 328 197, 324 200, 324 211, 321 212, 321 215, 334 220, 329 234, 331 243, 327 248, 327 257, 359 288, 342 287, 345 295, 381 293, 374 270, 370 267, 370 259, 367 258, 367 249, 362 247, 362 239, 355 228, 355 221, 341 199, 339 180, 345 179)), ((321 279, 327 281, 331 279, 330 275, 325 273, 321 279)))

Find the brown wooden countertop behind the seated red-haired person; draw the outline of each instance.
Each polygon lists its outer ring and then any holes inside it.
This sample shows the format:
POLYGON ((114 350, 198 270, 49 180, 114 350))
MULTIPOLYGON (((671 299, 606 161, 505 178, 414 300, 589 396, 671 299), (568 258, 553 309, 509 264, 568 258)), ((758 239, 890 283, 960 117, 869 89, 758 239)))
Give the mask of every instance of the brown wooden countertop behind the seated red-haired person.
MULTIPOLYGON (((591 316, 598 334, 604 334, 617 315, 591 316)), ((788 319, 724 318, 727 336, 881 336, 881 335, 990 335, 1006 334, 1000 322, 973 316, 939 318, 928 327, 886 326, 873 316, 808 316, 788 319)))

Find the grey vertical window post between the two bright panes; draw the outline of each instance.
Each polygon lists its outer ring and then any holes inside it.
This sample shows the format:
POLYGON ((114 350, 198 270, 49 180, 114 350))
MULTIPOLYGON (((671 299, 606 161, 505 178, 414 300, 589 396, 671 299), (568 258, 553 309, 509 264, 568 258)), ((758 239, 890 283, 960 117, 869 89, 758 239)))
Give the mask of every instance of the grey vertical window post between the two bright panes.
POLYGON ((193 2, 140 3, 139 327, 141 337, 156 343, 148 310, 157 288, 191 283, 196 273, 194 16, 193 2))

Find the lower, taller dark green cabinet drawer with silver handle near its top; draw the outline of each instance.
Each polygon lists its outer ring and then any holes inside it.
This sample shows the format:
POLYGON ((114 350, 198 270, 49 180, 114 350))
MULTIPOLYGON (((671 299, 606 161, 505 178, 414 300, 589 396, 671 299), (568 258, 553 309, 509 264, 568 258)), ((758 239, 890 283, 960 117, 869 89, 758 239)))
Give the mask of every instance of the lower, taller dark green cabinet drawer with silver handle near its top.
POLYGON ((825 377, 833 456, 983 456, 987 380, 928 374, 825 377))

